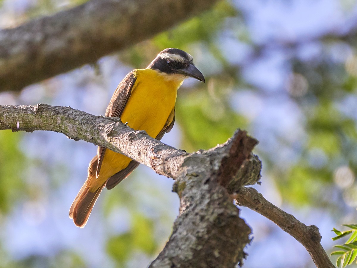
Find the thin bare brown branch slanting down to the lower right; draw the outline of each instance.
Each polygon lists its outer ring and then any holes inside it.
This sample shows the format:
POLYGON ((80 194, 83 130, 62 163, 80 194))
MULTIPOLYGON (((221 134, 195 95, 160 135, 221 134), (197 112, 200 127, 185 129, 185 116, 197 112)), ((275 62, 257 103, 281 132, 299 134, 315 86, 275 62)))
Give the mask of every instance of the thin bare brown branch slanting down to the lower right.
POLYGON ((276 207, 254 188, 242 187, 236 194, 237 205, 250 208, 276 223, 298 240, 310 253, 318 268, 335 268, 321 245, 321 235, 315 225, 306 226, 293 215, 276 207))

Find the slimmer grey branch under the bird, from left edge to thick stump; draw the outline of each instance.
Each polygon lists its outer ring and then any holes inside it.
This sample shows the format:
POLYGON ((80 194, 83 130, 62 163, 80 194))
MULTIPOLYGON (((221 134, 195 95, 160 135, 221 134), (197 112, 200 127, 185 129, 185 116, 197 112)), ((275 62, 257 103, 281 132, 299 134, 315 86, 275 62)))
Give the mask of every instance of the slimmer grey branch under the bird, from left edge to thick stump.
POLYGON ((95 116, 70 107, 47 104, 0 106, 1 129, 60 132, 69 138, 85 140, 128 155, 171 178, 177 176, 183 157, 188 155, 151 138, 145 131, 134 131, 117 118, 95 116))

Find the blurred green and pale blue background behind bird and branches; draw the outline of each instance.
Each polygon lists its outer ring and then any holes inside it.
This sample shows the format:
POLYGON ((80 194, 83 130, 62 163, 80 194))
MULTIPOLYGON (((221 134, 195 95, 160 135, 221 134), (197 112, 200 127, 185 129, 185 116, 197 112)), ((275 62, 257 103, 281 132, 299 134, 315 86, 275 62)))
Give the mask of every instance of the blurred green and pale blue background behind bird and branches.
MULTIPOLYGON (((83 2, 0 0, 0 27, 83 2)), ((248 130, 260 141, 258 191, 317 225, 331 253, 331 229, 357 222, 356 36, 357 1, 220 1, 95 65, 21 93, 2 92, 0 105, 47 103, 102 115, 131 69, 145 68, 164 48, 183 49, 206 84, 185 81, 176 124, 162 141, 193 152, 225 142, 237 128, 248 130)), ((155 258, 179 200, 173 181, 149 168, 140 166, 104 190, 84 229, 68 218, 95 154, 93 144, 59 133, 0 131, 0 267, 137 268, 155 258)), ((249 209, 241 215, 254 237, 244 267, 315 267, 305 248, 275 224, 249 209)))

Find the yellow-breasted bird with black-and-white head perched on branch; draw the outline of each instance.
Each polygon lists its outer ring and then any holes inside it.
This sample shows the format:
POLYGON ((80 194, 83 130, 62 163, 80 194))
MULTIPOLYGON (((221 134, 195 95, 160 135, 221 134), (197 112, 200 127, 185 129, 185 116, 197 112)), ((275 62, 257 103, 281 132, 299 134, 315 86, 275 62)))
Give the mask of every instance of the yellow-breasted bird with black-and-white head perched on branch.
MULTIPOLYGON (((175 122, 177 90, 186 78, 205 83, 190 54, 176 48, 162 50, 145 69, 134 69, 117 86, 105 116, 117 117, 135 130, 160 140, 175 122)), ((114 188, 139 165, 135 160, 98 147, 88 176, 71 205, 69 217, 83 228, 102 189, 114 188)))

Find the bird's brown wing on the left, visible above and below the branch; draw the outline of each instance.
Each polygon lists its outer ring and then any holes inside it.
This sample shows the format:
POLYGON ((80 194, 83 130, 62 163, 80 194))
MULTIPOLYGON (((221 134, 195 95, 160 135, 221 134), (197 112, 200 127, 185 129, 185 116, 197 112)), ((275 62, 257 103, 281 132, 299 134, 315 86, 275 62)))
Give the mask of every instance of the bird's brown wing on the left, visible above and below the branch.
MULTIPOLYGON (((120 117, 124 107, 130 97, 131 90, 136 81, 134 70, 125 76, 123 80, 121 80, 120 84, 114 91, 112 98, 110 99, 110 103, 105 111, 105 116, 111 117, 120 117)), ((124 122, 126 123, 126 122, 124 122)), ((105 153, 105 147, 98 146, 98 165, 96 170, 96 177, 99 176, 100 167, 102 166, 102 161, 105 153)))

